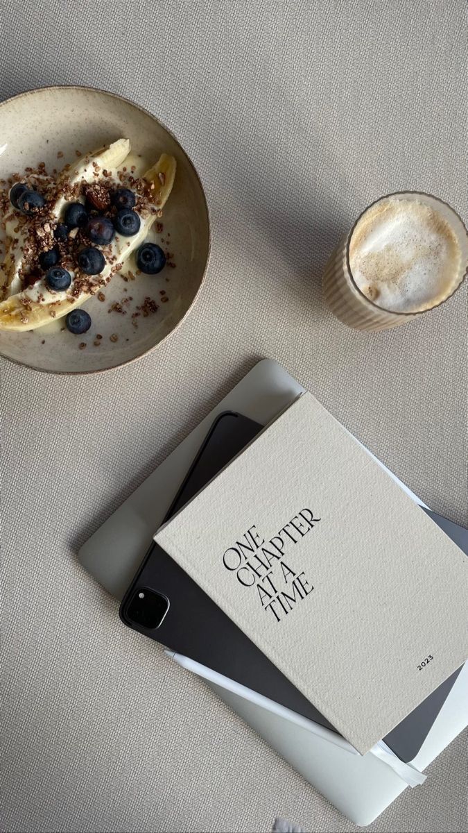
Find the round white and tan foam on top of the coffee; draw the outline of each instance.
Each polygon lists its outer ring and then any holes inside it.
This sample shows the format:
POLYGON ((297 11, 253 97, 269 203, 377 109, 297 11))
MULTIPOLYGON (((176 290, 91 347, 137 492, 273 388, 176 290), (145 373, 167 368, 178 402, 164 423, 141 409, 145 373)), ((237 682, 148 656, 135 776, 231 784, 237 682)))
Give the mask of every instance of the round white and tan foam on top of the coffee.
POLYGON ((423 202, 389 197, 371 206, 351 237, 350 267, 361 292, 392 312, 419 312, 459 280, 456 233, 423 202))

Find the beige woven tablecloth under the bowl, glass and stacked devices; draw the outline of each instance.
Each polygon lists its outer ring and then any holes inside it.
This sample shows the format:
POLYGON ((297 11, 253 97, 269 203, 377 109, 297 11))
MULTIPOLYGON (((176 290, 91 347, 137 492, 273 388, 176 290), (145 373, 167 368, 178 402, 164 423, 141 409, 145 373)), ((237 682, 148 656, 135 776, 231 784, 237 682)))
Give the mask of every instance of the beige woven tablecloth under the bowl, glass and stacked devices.
MULTIPOLYGON (((376 335, 337 322, 320 290, 337 237, 374 197, 420 189, 468 216, 466 4, 0 10, 2 97, 80 83, 134 99, 187 149, 213 224, 197 306, 152 355, 82 378, 2 362, 3 830, 267 831, 280 815, 352 831, 200 681, 123 627, 74 553, 260 357, 468 523, 466 288, 376 335)), ((465 793, 459 738, 369 829, 464 831, 465 793)))

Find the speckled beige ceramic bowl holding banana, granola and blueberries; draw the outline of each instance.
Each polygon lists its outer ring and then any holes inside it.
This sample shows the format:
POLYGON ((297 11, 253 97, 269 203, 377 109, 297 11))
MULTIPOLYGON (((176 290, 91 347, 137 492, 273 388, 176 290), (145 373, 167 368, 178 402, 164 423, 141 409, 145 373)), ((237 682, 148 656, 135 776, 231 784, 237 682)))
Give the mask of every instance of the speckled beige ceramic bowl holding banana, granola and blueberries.
POLYGON ((0 126, 0 178, 36 167, 38 162, 45 162, 49 171, 61 170, 67 162, 77 161, 77 151, 92 151, 119 137, 130 139, 132 151, 142 155, 147 167, 162 152, 176 157, 177 176, 164 207, 162 230, 154 227, 149 238, 170 250, 174 266, 166 266, 158 275, 139 275, 131 283, 115 275, 106 287, 105 302, 93 297, 84 305, 92 317, 92 327, 84 336, 63 330, 64 319, 32 332, 0 331, 2 356, 51 373, 108 370, 143 356, 182 322, 207 269, 207 201, 187 153, 151 113, 90 87, 23 92, 0 104, 0 126), (63 157, 58 157, 61 153, 63 157), (132 301, 125 314, 109 312, 113 303, 128 296, 132 301), (158 303, 155 313, 132 317, 146 297, 166 297, 167 301, 158 303), (86 348, 79 348, 81 342, 86 342, 86 348))

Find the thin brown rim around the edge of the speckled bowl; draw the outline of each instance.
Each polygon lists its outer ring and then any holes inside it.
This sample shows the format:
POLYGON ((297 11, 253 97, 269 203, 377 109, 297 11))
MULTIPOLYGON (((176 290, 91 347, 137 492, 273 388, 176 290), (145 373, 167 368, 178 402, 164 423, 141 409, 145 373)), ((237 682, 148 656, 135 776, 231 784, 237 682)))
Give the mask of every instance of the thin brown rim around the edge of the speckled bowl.
POLYGON ((211 254, 212 254, 212 219, 211 219, 211 216, 210 216, 210 209, 208 207, 207 195, 205 193, 205 188, 203 187, 203 183, 202 183, 202 179, 200 177, 200 174, 198 173, 197 168, 195 167, 194 163, 192 162, 192 158, 188 155, 185 148, 182 147, 181 142, 179 142, 179 140, 174 135, 172 130, 170 130, 169 127, 167 127, 164 124, 164 122, 161 121, 160 118, 158 118, 152 112, 147 110, 146 107, 142 107, 140 104, 137 104, 136 102, 133 102, 131 98, 121 96, 117 92, 111 92, 110 90, 104 90, 101 87, 88 87, 86 84, 52 84, 52 85, 46 85, 45 87, 33 87, 30 90, 24 90, 23 92, 17 92, 16 95, 10 96, 9 98, 5 98, 2 102, 0 102, 0 111, 1 111, 2 107, 4 107, 5 105, 9 104, 12 101, 15 101, 17 98, 23 98, 23 97, 27 97, 29 95, 33 95, 35 92, 45 92, 45 91, 53 91, 53 90, 87 90, 89 92, 101 92, 106 96, 109 96, 109 97, 112 97, 112 98, 117 98, 118 101, 125 102, 126 104, 130 104, 132 107, 135 107, 137 110, 140 110, 140 112, 143 112, 143 113, 145 113, 145 115, 152 118, 152 120, 154 122, 157 122, 157 124, 160 127, 162 127, 163 130, 165 130, 169 134, 170 137, 172 137, 173 141, 176 142, 177 147, 180 148, 180 150, 182 151, 184 156, 187 158, 187 161, 189 162, 189 165, 192 167, 192 171, 194 172, 195 177, 197 178, 197 182, 198 182, 198 184, 201 188, 203 202, 204 202, 204 205, 205 205, 205 211, 207 212, 207 223, 208 223, 207 260, 205 262, 205 267, 204 267, 203 272, 202 272, 202 278, 200 280, 200 285, 199 285, 199 287, 197 289, 197 292, 195 293, 194 297, 192 298, 192 303, 190 304, 190 306, 188 307, 186 312, 184 312, 180 321, 177 322, 175 327, 172 327, 172 330, 170 332, 168 332, 167 335, 164 336, 161 339, 160 342, 157 342, 157 344, 153 344, 152 347, 148 347, 147 350, 140 353, 138 356, 134 356, 132 359, 127 359, 125 362, 121 362, 120 364, 114 365, 114 367, 97 367, 95 370, 46 370, 44 367, 32 367, 32 365, 27 364, 27 362, 19 362, 17 359, 12 359, 9 356, 5 356, 5 354, 2 353, 2 351, 0 350, 0 356, 2 358, 6 359, 7 362, 12 362, 12 364, 16 364, 19 367, 27 367, 29 370, 32 370, 32 371, 37 372, 37 373, 49 373, 49 374, 52 374, 53 376, 90 376, 94 373, 115 372, 115 371, 119 370, 121 367, 126 367, 127 365, 130 365, 133 362, 138 362, 143 357, 148 356, 149 353, 153 352, 154 350, 157 350, 157 347, 160 347, 160 345, 164 344, 164 342, 167 342, 167 339, 170 338, 172 336, 172 334, 178 330, 179 327, 181 327, 183 322, 186 320, 188 314, 190 312, 192 312, 192 309, 193 309, 193 307, 195 306, 195 303, 198 300, 200 292, 202 291, 202 286, 203 286, 203 283, 205 282, 205 278, 207 277, 207 270, 208 270, 208 266, 209 266, 209 262, 210 262, 210 257, 211 257, 211 254))

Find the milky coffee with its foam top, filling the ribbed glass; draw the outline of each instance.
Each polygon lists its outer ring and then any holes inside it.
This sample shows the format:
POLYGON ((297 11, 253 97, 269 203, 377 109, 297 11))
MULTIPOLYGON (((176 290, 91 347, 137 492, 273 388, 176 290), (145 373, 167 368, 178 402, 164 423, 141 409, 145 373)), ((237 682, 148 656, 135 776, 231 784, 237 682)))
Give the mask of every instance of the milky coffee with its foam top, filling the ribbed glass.
POLYGON ((458 214, 437 197, 401 192, 357 219, 326 265, 324 295, 350 327, 397 327, 451 297, 467 267, 458 214))

